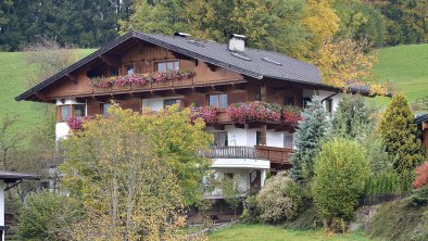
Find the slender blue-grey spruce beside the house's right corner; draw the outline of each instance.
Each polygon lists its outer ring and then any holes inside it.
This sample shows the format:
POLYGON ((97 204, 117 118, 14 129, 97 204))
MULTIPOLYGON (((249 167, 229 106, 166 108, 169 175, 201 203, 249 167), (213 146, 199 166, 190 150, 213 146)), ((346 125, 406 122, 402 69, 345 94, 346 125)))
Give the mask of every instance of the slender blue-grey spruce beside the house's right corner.
POLYGON ((320 98, 313 97, 302 113, 295 132, 295 152, 291 157, 291 177, 298 182, 309 182, 314 176, 314 160, 320 141, 326 138, 329 120, 320 98))

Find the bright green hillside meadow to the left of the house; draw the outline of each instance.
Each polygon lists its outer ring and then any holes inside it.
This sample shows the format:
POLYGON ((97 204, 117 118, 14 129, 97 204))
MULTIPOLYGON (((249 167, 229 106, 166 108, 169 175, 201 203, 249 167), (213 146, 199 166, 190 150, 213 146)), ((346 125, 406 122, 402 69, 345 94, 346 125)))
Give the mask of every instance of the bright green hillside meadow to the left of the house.
MULTIPOLYGON (((79 50, 80 58, 93 50, 79 50)), ((28 78, 36 72, 35 64, 27 64, 22 52, 0 52, 0 122, 3 116, 17 115, 21 120, 15 129, 42 125, 42 105, 28 101, 15 101, 15 97, 29 88, 28 78)))

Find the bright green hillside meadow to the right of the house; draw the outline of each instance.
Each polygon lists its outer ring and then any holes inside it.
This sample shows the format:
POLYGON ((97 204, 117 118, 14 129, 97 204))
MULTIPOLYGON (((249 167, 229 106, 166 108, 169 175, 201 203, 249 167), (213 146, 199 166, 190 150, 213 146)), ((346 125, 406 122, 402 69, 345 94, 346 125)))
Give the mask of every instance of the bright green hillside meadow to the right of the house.
POLYGON ((428 96, 428 43, 381 49, 375 76, 390 81, 411 102, 428 96))

